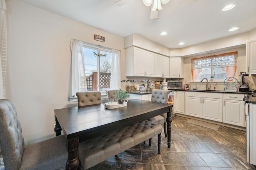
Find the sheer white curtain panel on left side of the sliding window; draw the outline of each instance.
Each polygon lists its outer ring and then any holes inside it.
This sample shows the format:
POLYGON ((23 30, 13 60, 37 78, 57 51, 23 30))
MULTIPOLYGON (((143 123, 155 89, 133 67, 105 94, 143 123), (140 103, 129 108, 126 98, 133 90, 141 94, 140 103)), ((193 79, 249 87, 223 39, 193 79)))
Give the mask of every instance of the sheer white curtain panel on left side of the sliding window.
POLYGON ((76 92, 87 91, 83 42, 71 39, 70 49, 72 54, 72 96, 75 96, 76 92))

